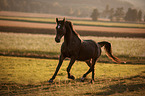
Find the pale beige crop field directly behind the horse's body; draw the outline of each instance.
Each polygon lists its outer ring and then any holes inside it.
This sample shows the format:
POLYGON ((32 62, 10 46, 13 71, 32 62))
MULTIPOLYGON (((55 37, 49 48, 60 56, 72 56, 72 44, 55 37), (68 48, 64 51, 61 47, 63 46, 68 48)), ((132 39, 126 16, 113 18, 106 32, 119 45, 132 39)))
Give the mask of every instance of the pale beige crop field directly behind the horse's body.
MULTIPOLYGON (((0 53, 1 55, 57 58, 62 42, 56 43, 54 38, 54 35, 0 33, 0 53)), ((109 41, 115 56, 124 59, 135 57, 136 61, 145 61, 145 39, 93 36, 83 36, 82 39, 92 39, 96 42, 109 41)), ((105 56, 104 51, 102 56, 105 56)))

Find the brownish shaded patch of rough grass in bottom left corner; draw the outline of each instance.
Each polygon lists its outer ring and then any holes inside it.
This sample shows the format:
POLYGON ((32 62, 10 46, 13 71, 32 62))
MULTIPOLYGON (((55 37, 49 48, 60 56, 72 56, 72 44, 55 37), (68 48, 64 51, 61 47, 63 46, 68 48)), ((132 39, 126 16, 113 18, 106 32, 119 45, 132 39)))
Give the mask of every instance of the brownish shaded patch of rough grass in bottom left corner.
POLYGON ((49 83, 48 81, 40 82, 39 84, 17 84, 17 83, 0 83, 0 96, 12 95, 38 95, 39 93, 49 93, 60 90, 67 85, 75 86, 76 80, 60 80, 49 83))

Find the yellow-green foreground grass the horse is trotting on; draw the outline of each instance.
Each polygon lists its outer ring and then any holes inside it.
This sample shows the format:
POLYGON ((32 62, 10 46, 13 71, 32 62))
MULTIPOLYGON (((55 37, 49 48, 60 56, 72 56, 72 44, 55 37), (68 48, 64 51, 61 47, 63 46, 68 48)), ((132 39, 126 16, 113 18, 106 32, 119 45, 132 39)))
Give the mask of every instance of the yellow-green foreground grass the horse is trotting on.
POLYGON ((81 76, 88 70, 84 62, 76 62, 71 73, 76 80, 67 79, 65 61, 53 84, 58 60, 0 56, 1 95, 135 95, 145 94, 145 65, 104 64, 95 66, 95 83, 91 75, 85 82, 81 76), (83 66, 83 67, 82 67, 83 66))

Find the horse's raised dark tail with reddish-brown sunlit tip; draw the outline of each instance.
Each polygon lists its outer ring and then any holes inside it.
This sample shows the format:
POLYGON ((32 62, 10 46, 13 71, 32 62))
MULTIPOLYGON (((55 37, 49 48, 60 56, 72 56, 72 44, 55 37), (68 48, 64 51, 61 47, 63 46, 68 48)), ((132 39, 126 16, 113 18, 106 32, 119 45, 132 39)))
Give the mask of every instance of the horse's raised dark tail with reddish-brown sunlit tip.
POLYGON ((104 46, 104 49, 106 51, 106 54, 107 56, 112 59, 112 61, 116 62, 116 63, 122 63, 120 61, 120 59, 118 59, 117 57, 113 56, 112 54, 112 48, 111 48, 111 44, 107 41, 103 41, 103 42, 98 42, 98 44, 103 47, 104 46))

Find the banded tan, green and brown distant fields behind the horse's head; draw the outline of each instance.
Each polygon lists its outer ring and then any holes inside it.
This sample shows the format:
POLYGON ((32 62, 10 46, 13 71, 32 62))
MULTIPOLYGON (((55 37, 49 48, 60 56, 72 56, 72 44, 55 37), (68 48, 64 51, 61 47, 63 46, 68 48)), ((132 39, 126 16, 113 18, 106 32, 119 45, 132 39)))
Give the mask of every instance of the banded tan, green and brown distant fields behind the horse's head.
MULTIPOLYGON (((0 31, 32 34, 55 34, 55 18, 50 14, 0 12, 0 31)), ((91 21, 66 17, 81 36, 145 38, 145 24, 133 22, 91 21)))

